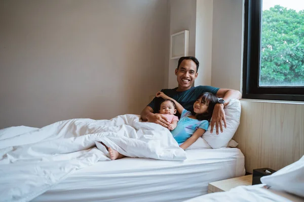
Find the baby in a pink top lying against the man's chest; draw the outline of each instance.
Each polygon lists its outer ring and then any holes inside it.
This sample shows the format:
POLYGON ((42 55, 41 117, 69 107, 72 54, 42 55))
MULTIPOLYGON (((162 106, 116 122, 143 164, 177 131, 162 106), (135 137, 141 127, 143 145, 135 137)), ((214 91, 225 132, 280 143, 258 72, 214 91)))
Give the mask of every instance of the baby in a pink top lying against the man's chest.
POLYGON ((176 114, 176 107, 175 103, 170 99, 165 99, 160 106, 160 114, 162 114, 167 121, 170 123, 168 126, 169 130, 174 130, 177 126, 178 117, 175 116, 176 114))

